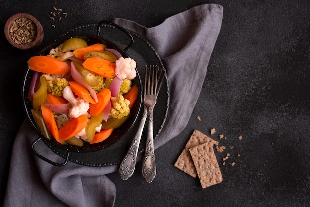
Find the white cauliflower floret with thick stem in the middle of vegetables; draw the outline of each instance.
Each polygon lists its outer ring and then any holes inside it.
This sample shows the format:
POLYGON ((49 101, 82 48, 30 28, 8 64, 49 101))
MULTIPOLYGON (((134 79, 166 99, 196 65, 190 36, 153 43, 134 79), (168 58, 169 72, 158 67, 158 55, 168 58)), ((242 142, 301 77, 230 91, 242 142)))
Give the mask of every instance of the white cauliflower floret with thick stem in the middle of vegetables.
POLYGON ((89 103, 85 102, 81 98, 75 98, 70 86, 67 86, 63 89, 62 95, 71 105, 68 113, 70 118, 77 118, 83 114, 87 114, 89 103))

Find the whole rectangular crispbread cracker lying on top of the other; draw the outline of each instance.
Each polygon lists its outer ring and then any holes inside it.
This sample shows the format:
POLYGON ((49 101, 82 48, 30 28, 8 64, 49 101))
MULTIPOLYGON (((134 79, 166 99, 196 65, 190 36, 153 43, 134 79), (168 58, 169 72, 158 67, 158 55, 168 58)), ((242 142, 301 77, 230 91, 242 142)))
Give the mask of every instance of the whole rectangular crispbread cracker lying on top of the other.
POLYGON ((213 145, 204 143, 189 149, 196 172, 203 188, 223 181, 213 145))

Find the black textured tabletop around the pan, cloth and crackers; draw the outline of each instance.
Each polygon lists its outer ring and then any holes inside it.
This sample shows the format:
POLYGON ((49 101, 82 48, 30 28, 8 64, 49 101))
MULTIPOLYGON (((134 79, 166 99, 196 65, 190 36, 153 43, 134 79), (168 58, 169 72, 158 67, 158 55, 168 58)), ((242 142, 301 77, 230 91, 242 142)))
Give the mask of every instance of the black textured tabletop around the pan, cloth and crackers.
MULTIPOLYGON (((1 3, 0 26, 13 14, 34 15, 45 31, 41 46, 64 32, 113 17, 146 27, 203 3, 224 7, 221 32, 206 79, 184 131, 155 151, 157 176, 144 181, 140 170, 116 185, 115 206, 296 206, 310 203, 310 1, 309 0, 10 0, 1 3), (52 6, 68 17, 51 27, 52 6), (196 116, 201 117, 199 122, 196 116), (202 189, 173 166, 190 134, 211 135, 221 184, 202 189), (219 134, 227 139, 220 140, 219 134), (243 139, 238 140, 242 135, 243 139), (229 146, 233 146, 231 149, 229 146), (230 153, 226 164, 222 158, 230 153), (238 157, 237 154, 240 154, 238 157), (235 162, 235 166, 230 165, 235 162)), ((3 31, 3 30, 2 30, 3 31)), ((0 33, 0 202, 5 196, 14 137, 25 119, 20 98, 26 62, 36 50, 19 51, 0 33)), ((25 146, 29 148, 30 146, 25 146)), ((23 152, 21 152, 23 153, 23 152)), ((141 169, 141 163, 137 165, 141 169)), ((39 179, 39 178, 38 178, 39 179)), ((40 192, 38 192, 39 194, 40 192)))

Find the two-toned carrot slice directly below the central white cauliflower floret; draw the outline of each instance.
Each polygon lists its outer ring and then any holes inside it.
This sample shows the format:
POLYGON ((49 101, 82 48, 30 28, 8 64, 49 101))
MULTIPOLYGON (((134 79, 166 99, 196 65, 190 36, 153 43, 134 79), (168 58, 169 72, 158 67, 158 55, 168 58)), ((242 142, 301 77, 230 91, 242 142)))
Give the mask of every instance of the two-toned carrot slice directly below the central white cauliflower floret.
POLYGON ((68 120, 63 127, 59 129, 59 139, 65 141, 77 135, 87 125, 87 115, 83 114, 77 118, 68 120))

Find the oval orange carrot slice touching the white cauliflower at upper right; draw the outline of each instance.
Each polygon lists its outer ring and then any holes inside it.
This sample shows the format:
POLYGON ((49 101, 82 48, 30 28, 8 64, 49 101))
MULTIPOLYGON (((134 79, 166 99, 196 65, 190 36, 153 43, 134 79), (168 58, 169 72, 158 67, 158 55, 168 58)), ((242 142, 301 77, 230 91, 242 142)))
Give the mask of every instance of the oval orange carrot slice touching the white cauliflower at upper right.
POLYGON ((83 66, 103 78, 114 78, 116 76, 115 63, 100 57, 87 58, 83 62, 83 66))

